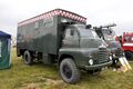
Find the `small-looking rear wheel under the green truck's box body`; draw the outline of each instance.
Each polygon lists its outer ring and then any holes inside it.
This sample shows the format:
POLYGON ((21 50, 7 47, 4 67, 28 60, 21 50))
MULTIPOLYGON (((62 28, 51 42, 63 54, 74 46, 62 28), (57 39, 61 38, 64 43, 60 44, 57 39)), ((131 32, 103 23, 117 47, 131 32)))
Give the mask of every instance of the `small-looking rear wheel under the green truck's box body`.
POLYGON ((28 50, 24 51, 24 53, 23 53, 23 60, 24 60, 25 65, 32 65, 33 63, 32 56, 28 50))

